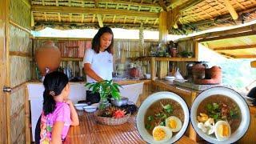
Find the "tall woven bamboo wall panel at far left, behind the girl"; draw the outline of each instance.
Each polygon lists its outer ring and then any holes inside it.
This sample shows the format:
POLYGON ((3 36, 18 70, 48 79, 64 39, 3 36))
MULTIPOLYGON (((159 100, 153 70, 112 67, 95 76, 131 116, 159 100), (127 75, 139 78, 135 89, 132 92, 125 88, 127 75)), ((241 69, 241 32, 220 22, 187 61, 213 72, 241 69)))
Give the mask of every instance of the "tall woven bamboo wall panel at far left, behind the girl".
POLYGON ((30 80, 30 1, 10 0, 9 35, 6 38, 9 49, 9 82, 13 89, 7 99, 7 126, 9 143, 25 143, 25 84, 30 80))

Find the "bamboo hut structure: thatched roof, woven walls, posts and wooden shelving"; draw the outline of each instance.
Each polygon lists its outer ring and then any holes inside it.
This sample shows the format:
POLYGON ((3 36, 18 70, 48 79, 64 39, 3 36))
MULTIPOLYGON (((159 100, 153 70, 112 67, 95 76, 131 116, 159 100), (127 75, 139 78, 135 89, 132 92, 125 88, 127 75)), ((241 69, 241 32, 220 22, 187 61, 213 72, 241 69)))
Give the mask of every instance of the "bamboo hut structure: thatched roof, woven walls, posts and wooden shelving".
MULTIPOLYGON (((196 90, 170 86, 161 79, 174 67, 186 75, 186 63, 198 62, 198 44, 226 58, 256 58, 255 0, 2 0, 0 5, 0 143, 31 143, 31 112, 27 85, 39 83, 35 51, 46 40, 54 41, 62 52, 62 68, 71 77, 84 76, 82 58, 91 38, 34 37, 32 30, 98 29, 102 26, 139 30, 140 38, 115 39, 114 72, 124 74, 122 65, 134 62, 149 80, 144 82, 137 106, 154 92, 179 94, 188 106, 199 94, 196 90), (167 34, 186 35, 234 26, 232 29, 180 38, 178 52, 193 52, 192 58, 152 57, 152 46, 169 42, 167 34), (143 39, 143 30, 159 31, 158 40, 143 39), (69 51, 66 53, 66 51, 69 51)), ((256 67, 256 61, 251 62, 256 67)), ((250 128, 239 143, 254 143, 256 107, 250 106, 250 128)), ((186 137, 202 142, 190 125, 186 137)))

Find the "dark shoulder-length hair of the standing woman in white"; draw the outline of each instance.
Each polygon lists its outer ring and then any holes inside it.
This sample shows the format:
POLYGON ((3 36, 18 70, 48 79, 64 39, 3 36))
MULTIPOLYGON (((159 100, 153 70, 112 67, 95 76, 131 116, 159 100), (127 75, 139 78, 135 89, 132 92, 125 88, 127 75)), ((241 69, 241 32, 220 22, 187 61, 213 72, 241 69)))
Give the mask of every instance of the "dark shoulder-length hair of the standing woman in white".
POLYGON ((106 49, 107 52, 109 52, 110 54, 113 54, 113 43, 114 43, 114 34, 113 31, 110 29, 110 27, 108 26, 104 26, 102 28, 100 28, 98 30, 98 33, 95 34, 94 38, 93 38, 93 42, 92 42, 92 49, 98 54, 99 50, 100 50, 100 38, 102 36, 102 34, 104 33, 110 33, 112 34, 112 41, 110 46, 106 49))

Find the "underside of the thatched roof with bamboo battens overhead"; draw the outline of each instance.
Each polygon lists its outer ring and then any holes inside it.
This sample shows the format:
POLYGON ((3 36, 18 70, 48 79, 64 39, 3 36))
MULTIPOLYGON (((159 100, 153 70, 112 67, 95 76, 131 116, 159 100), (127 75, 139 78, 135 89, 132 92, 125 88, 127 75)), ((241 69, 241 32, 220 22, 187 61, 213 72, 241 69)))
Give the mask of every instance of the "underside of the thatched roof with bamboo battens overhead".
POLYGON ((141 24, 158 30, 159 13, 167 11, 169 33, 190 34, 256 18, 255 0, 31 0, 31 5, 34 30, 102 25, 138 29, 141 24))

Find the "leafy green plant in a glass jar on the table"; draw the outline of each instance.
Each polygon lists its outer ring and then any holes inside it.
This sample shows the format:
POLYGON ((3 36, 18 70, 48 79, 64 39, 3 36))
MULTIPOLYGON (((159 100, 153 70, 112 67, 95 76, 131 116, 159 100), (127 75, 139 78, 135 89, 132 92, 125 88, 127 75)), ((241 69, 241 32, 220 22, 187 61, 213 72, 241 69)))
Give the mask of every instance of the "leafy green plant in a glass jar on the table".
POLYGON ((98 106, 100 110, 105 109, 109 105, 107 98, 110 95, 114 99, 117 99, 117 100, 121 99, 121 94, 119 92, 118 87, 122 87, 122 86, 118 85, 117 83, 114 83, 112 80, 110 81, 104 80, 104 81, 95 82, 95 83, 87 82, 85 86, 88 87, 89 90, 92 90, 93 93, 98 92, 100 94, 101 100, 98 106))

